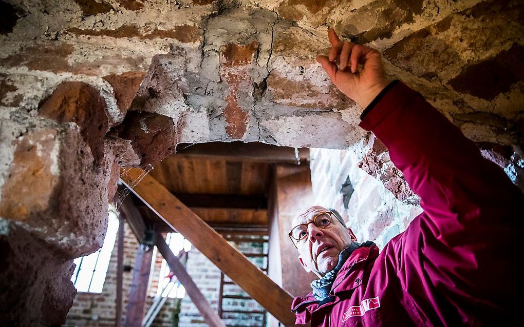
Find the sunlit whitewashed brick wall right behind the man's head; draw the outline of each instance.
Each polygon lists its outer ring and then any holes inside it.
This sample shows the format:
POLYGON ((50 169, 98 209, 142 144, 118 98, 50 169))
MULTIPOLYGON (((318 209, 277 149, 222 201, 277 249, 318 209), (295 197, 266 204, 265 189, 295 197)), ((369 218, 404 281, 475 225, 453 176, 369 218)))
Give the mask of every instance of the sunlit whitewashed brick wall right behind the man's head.
POLYGON ((339 210, 359 242, 382 248, 421 212, 361 170, 352 151, 311 149, 310 160, 315 204, 339 210))

